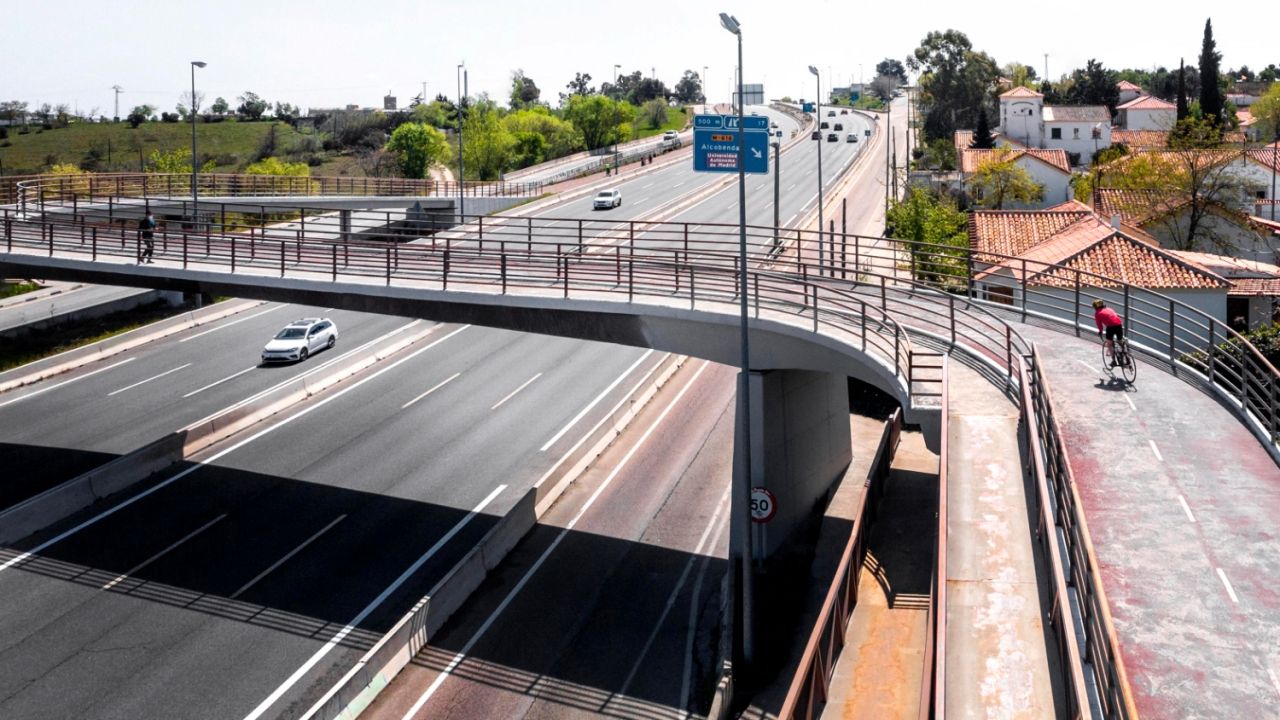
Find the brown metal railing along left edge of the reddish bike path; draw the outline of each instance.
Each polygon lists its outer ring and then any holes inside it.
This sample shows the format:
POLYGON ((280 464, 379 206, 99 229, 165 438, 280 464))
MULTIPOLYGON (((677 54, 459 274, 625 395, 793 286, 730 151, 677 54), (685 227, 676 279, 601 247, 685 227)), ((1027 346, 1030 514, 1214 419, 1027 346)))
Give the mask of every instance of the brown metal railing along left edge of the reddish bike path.
POLYGON ((1042 368, 1039 351, 1033 350, 1021 369, 1023 424, 1037 487, 1039 524, 1036 534, 1053 571, 1050 621, 1068 670, 1069 716, 1093 716, 1091 700, 1096 700, 1098 717, 1137 719, 1138 710, 1120 656, 1098 560, 1042 368), (1074 594, 1068 588, 1075 591, 1074 594), (1078 629, 1084 642, 1083 652, 1076 639, 1078 629), (1085 671, 1089 671, 1092 683, 1085 682, 1085 671))

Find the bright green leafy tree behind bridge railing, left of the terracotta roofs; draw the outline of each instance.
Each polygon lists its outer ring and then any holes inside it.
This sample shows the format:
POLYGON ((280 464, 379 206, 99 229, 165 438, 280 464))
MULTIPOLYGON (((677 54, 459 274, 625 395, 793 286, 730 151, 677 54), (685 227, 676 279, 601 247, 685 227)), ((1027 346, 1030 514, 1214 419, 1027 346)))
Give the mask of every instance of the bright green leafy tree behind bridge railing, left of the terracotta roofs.
POLYGON ((964 277, 968 215, 951 199, 923 187, 908 187, 901 200, 890 201, 884 232, 888 237, 910 241, 915 279, 946 283, 964 277))

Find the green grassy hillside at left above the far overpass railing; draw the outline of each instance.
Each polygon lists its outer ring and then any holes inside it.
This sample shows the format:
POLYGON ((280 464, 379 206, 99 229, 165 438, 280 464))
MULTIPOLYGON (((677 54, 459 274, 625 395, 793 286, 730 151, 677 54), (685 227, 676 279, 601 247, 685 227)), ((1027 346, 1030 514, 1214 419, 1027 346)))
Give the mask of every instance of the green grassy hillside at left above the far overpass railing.
MULTIPOLYGON (((200 155, 212 158, 215 172, 238 170, 252 161, 273 126, 276 155, 283 154, 294 138, 303 137, 287 123, 196 123, 200 155)), ((189 149, 191 126, 142 123, 134 129, 128 123, 76 123, 46 131, 32 126, 27 135, 19 135, 19 128, 9 128, 9 138, 0 141, 0 165, 6 176, 40 173, 55 163, 78 165, 93 147, 102 158, 100 172, 138 172, 140 154, 146 159, 152 150, 189 149), (8 147, 5 142, 9 142, 8 147)))

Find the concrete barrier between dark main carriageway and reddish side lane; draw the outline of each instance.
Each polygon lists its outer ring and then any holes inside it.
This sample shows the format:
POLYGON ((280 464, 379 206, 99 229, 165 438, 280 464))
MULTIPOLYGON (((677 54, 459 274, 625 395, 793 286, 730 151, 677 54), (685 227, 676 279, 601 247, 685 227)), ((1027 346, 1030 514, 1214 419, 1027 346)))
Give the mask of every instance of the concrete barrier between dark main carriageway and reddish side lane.
MULTIPOLYGON (((349 720, 360 715, 378 693, 412 662, 413 656, 426 647, 431 635, 480 587, 489 571, 498 566, 516 544, 531 530, 547 510, 559 498, 564 488, 590 466, 653 400, 662 386, 684 365, 686 356, 668 355, 654 366, 617 406, 614 413, 595 424, 588 436, 575 446, 575 451, 561 459, 556 468, 568 469, 554 483, 539 483, 508 510, 472 548, 406 612, 381 639, 374 644, 329 692, 303 715, 303 720, 349 720), (593 442, 594 441, 594 442, 593 442)), ((550 474, 545 477, 552 477, 550 474)), ((544 478, 545 478, 544 477, 544 478)))

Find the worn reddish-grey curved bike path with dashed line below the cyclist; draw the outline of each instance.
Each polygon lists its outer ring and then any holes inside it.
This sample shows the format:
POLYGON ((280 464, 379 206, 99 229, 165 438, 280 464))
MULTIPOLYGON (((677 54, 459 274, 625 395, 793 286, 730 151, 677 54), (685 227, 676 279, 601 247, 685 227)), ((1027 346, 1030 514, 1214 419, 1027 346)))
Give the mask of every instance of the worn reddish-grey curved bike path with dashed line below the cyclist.
POLYGON ((1229 407, 1137 354, 1039 345, 1143 719, 1280 717, 1280 469, 1229 407))

